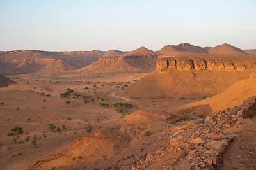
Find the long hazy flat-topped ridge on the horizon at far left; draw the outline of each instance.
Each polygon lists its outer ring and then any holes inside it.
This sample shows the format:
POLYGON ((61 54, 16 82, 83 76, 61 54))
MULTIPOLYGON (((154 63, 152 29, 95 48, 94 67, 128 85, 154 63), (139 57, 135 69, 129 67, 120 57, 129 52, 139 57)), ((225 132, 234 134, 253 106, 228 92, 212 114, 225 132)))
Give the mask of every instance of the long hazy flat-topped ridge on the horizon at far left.
POLYGON ((0 52, 0 73, 37 73, 79 69, 95 62, 106 52, 45 52, 15 50, 0 52))

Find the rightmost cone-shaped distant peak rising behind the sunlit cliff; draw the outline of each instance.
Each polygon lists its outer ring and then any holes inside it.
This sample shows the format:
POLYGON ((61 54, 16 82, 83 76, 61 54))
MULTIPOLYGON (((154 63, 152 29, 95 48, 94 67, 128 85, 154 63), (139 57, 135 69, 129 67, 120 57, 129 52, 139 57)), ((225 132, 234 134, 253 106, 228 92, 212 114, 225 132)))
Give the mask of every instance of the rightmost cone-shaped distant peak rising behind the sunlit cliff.
POLYGON ((246 52, 237 48, 235 46, 224 43, 223 45, 217 45, 214 48, 208 50, 210 54, 237 54, 237 55, 247 55, 246 52))

